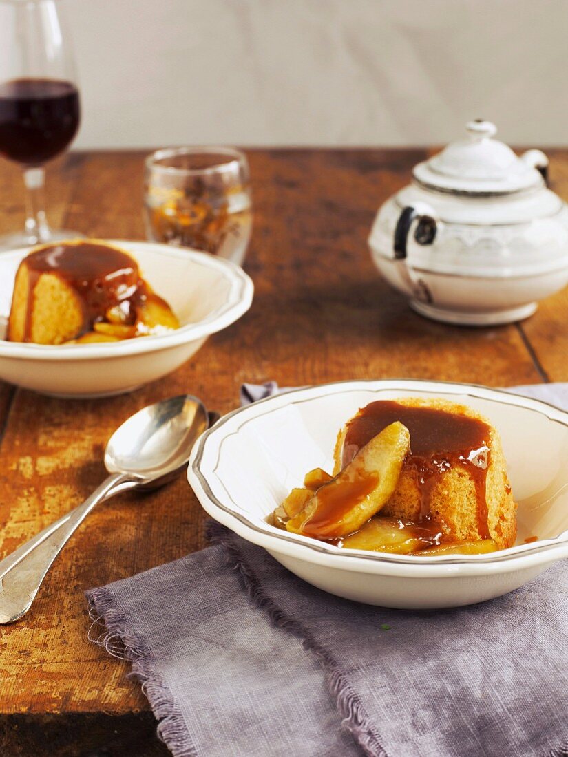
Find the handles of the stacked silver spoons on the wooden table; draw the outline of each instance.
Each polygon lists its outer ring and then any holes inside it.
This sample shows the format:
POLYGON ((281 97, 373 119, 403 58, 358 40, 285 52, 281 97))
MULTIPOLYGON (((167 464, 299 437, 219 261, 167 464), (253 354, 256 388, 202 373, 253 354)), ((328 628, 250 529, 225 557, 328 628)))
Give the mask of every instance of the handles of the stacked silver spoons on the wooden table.
POLYGON ((123 473, 108 476, 83 504, 0 561, 0 624, 13 623, 30 609, 51 562, 93 507, 113 496, 116 491, 112 490, 120 487, 120 491, 124 491, 138 483, 137 479, 123 473))

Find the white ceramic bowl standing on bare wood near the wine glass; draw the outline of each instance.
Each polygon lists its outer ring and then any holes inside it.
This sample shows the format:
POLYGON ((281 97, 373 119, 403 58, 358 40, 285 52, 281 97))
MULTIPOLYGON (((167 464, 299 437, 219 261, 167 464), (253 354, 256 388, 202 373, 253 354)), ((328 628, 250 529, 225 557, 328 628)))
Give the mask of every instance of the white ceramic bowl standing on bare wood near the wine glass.
MULTIPOLYGON (((23 344, 0 339, 0 378, 59 397, 130 391, 179 368, 204 341, 251 307, 251 279, 228 260, 153 242, 111 240, 172 307, 181 327, 100 344, 23 344)), ((0 318, 5 335, 17 266, 31 248, 0 254, 0 318)))

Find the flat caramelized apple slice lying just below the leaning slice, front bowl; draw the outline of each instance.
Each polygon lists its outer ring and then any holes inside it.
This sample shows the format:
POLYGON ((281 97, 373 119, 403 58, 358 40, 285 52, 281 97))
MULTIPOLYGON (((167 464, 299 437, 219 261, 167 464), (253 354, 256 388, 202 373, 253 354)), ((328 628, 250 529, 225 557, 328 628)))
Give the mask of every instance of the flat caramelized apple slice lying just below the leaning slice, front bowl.
POLYGON ((424 550, 433 542, 420 526, 405 525, 401 520, 387 516, 376 516, 357 531, 345 537, 343 547, 350 550, 370 550, 371 552, 395 552, 407 555, 424 550), (422 533, 422 531, 424 533, 422 533))

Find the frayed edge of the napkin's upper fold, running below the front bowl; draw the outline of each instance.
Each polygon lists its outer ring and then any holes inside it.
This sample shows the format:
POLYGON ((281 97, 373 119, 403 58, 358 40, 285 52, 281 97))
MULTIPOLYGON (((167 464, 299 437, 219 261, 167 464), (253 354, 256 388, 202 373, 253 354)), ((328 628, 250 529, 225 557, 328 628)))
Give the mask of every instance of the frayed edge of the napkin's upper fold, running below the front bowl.
POLYGON ((225 550, 230 567, 239 574, 242 585, 257 609, 267 613, 270 623, 282 631, 289 631, 301 640, 302 646, 314 654, 320 662, 335 706, 342 718, 342 726, 349 731, 357 746, 368 757, 388 757, 381 746, 379 736, 370 723, 360 697, 351 688, 345 673, 333 656, 314 639, 296 618, 287 615, 282 608, 264 592, 261 581, 236 545, 234 534, 220 523, 209 521, 206 534, 211 544, 220 544, 225 550))

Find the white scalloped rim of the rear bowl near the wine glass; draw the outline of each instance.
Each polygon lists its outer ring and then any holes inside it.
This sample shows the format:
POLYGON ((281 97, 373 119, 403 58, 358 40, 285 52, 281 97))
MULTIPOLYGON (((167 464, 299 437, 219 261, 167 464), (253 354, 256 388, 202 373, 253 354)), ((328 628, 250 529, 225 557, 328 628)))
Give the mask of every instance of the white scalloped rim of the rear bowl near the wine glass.
MULTIPOLYGON (((177 347, 190 341, 197 341, 230 326, 251 307, 254 294, 253 282, 240 266, 231 260, 215 257, 207 252, 190 248, 173 248, 159 242, 105 239, 111 245, 122 245, 126 251, 136 255, 136 249, 146 249, 152 254, 192 260, 198 266, 213 269, 229 282, 226 301, 209 313, 204 319, 180 326, 179 329, 164 334, 154 334, 137 339, 95 344, 31 344, 0 339, 0 358, 23 360, 99 360, 109 357, 145 354, 169 347, 177 347)), ((35 246, 35 245, 34 245, 35 246)), ((0 260, 23 258, 33 247, 17 248, 2 253, 0 260)))

